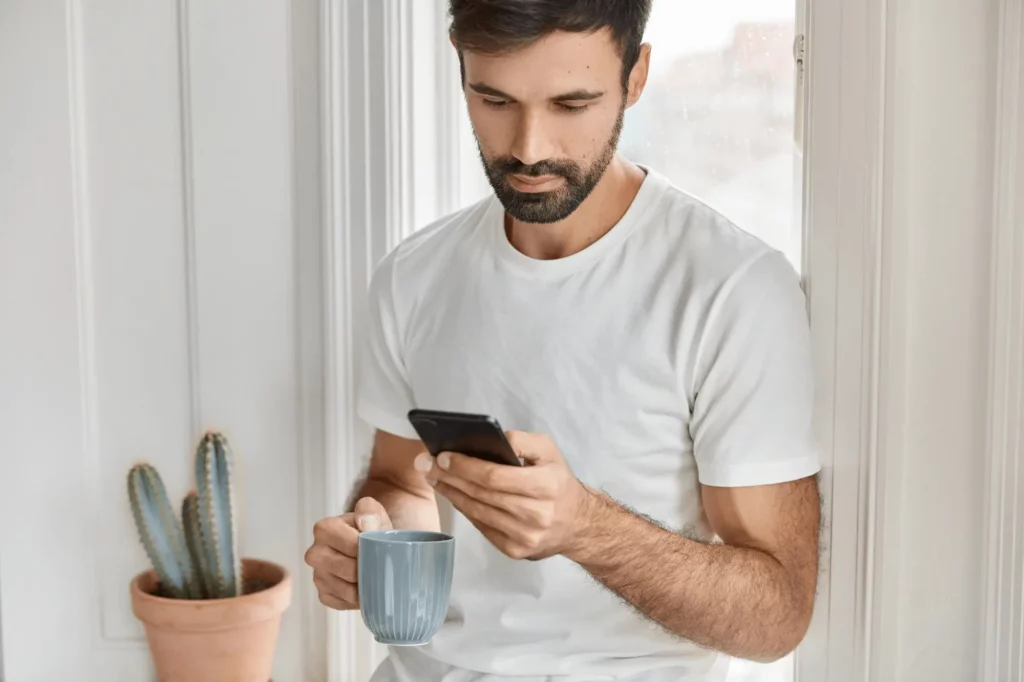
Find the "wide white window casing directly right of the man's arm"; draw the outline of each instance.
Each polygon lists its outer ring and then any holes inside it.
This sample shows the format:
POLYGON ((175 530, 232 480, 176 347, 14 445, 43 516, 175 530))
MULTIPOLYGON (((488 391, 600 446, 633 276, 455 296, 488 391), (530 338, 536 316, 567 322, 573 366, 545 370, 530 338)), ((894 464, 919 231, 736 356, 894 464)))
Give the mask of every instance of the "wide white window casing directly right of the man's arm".
POLYGON ((895 6, 808 7, 804 272, 820 399, 822 565, 801 682, 887 679, 896 589, 906 233, 894 216, 895 6), (894 483, 888 484, 887 481, 894 483))

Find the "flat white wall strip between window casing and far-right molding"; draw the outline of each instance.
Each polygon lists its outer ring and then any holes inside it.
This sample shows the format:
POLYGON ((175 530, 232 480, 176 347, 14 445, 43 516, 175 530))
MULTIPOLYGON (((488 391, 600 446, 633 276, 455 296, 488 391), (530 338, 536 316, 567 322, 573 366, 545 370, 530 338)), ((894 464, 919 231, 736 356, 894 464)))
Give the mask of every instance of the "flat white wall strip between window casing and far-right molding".
POLYGON ((897 574, 883 576, 897 586, 896 621, 882 632, 895 655, 880 679, 977 679, 997 4, 896 3, 891 190, 906 242, 893 255, 905 336, 894 372, 904 422, 892 425, 903 443, 897 574))

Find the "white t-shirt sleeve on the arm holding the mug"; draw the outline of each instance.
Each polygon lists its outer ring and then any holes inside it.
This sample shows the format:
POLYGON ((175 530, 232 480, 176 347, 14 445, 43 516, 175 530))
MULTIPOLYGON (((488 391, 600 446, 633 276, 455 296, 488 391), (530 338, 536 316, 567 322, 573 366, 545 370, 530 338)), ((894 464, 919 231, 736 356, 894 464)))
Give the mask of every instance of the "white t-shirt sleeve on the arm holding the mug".
POLYGON ((366 325, 359 330, 356 411, 375 429, 415 439, 419 436, 407 417, 414 399, 401 352, 394 256, 381 260, 370 281, 366 325))

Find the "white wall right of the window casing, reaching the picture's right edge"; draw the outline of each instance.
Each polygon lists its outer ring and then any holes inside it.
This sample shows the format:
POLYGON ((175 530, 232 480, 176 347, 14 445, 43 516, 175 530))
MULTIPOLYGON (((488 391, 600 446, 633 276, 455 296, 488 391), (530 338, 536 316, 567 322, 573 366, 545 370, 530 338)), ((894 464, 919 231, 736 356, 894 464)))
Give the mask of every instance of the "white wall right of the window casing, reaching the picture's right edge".
POLYGON ((871 679, 1020 682, 1024 2, 889 6, 871 679))

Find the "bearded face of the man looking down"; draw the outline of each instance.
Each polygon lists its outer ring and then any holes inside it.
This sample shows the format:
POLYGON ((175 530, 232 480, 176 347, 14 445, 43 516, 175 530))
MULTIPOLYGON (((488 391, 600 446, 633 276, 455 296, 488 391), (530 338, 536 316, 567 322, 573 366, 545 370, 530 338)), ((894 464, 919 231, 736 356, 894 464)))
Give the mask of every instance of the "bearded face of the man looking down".
POLYGON ((563 220, 614 156, 626 97, 609 31, 555 33, 512 54, 464 54, 466 100, 487 179, 523 222, 563 220))

